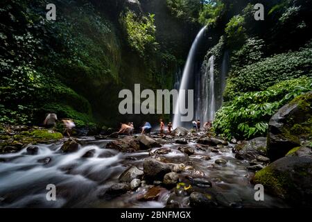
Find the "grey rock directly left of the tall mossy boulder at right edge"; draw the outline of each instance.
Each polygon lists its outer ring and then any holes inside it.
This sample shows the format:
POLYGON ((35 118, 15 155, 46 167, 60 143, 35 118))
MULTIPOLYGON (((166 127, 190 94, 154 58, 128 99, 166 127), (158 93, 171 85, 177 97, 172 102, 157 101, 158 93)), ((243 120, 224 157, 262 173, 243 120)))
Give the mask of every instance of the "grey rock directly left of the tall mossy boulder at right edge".
POLYGON ((235 157, 239 160, 254 160, 259 155, 266 156, 266 137, 257 137, 235 146, 235 157))

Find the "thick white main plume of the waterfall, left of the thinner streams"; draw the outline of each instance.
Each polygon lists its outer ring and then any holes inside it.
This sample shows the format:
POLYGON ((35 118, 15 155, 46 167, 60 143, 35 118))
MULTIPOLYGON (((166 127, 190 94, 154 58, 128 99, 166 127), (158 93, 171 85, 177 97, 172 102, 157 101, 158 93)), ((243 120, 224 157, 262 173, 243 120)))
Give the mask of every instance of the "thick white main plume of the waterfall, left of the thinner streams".
MULTIPOLYGON (((198 44, 200 42, 200 39, 202 38, 202 36, 205 33, 205 29, 206 26, 203 27, 200 32, 197 34, 192 46, 191 46, 191 50, 189 51, 189 56, 187 56, 187 63, 184 66, 184 70, 183 70, 183 74, 182 74, 182 80, 180 83, 180 88, 179 91, 181 92, 181 89, 189 89, 189 85, 191 83, 193 83, 193 79, 191 78, 193 76, 193 62, 194 62, 194 58, 196 56, 196 49, 198 48, 198 44)), ((179 94, 179 98, 177 99, 176 103, 175 103, 175 112, 174 112, 174 116, 173 116, 173 128, 177 128, 177 126, 185 126, 186 124, 183 124, 180 121, 181 118, 181 114, 179 111, 179 105, 182 102, 181 99, 187 99, 186 96, 180 96, 179 94), (184 97, 184 98, 182 98, 184 97)))

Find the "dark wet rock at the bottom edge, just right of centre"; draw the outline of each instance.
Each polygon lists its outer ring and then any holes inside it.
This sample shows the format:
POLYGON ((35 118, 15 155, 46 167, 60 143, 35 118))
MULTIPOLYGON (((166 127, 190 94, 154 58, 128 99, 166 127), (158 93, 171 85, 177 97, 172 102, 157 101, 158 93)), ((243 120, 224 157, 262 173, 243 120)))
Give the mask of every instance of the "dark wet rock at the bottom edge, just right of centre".
POLYGON ((211 194, 202 194, 200 192, 193 192, 189 196, 189 203, 191 207, 216 207, 217 203, 211 194))

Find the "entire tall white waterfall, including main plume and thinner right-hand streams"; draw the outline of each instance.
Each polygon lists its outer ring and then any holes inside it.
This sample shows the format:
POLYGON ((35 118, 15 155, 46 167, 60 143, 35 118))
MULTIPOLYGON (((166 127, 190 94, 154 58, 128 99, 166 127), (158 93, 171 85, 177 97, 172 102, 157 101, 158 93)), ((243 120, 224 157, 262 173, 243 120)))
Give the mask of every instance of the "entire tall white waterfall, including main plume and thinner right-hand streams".
MULTIPOLYGON (((180 81, 176 81, 175 88, 179 85, 179 99, 175 103, 175 112, 173 116, 173 128, 177 126, 189 127, 191 123, 185 123, 181 121, 181 114, 179 111, 179 105, 182 103, 182 99, 186 99, 185 96, 180 96, 181 89, 194 89, 194 120, 200 120, 205 123, 207 121, 214 121, 216 111, 221 107, 223 103, 223 92, 225 90, 226 78, 229 69, 229 52, 223 53, 222 61, 217 61, 216 56, 206 56, 202 62, 202 68, 198 73, 194 71, 194 63, 196 51, 198 50, 198 44, 200 39, 205 33, 206 27, 202 28, 196 39, 194 40, 187 63, 184 66, 182 78, 180 81), (222 63, 221 63, 222 62, 222 63), (216 70, 217 69, 217 70, 216 70)), ((178 77, 181 73, 178 73, 178 77)))

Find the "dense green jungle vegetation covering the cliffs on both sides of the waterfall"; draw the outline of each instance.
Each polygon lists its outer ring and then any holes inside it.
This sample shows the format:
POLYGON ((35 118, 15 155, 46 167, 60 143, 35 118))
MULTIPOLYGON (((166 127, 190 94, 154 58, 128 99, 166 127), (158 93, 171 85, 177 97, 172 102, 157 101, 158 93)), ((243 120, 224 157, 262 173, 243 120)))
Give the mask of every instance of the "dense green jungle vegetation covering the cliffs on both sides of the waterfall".
POLYGON ((309 0, 53 0, 56 21, 46 20, 47 3, 0 3, 0 123, 41 124, 56 112, 81 127, 116 127, 127 119, 120 89, 172 89, 202 26, 217 74, 230 56, 217 134, 266 135, 272 114, 312 89, 309 0))

